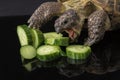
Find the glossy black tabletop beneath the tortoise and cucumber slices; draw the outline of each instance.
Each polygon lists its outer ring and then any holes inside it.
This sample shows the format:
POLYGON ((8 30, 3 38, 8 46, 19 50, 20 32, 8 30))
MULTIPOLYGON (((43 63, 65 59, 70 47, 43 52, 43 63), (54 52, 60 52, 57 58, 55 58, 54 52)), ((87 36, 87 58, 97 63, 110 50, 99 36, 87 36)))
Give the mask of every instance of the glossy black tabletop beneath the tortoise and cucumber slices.
MULTIPOLYGON (((16 26, 26 24, 29 16, 14 16, 0 18, 1 46, 1 73, 3 80, 120 80, 120 30, 107 32, 104 39, 92 46, 93 58, 86 71, 82 67, 64 63, 57 67, 41 67, 27 72, 22 66, 19 54, 19 40, 16 26), (97 62, 96 62, 97 61, 97 62), (84 72, 84 73, 83 73, 84 72), (107 73, 106 73, 107 72, 107 73), (97 74, 98 73, 98 74, 97 74), (105 74, 101 74, 105 73, 105 74)), ((43 26, 44 32, 53 29, 53 21, 43 26), (49 29, 47 29, 50 27, 49 29)), ((82 33, 84 36, 84 32, 82 33)), ((46 65, 46 64, 45 64, 46 65)), ((47 65, 48 66, 48 65, 47 65)), ((39 66, 40 67, 40 66, 39 66)))

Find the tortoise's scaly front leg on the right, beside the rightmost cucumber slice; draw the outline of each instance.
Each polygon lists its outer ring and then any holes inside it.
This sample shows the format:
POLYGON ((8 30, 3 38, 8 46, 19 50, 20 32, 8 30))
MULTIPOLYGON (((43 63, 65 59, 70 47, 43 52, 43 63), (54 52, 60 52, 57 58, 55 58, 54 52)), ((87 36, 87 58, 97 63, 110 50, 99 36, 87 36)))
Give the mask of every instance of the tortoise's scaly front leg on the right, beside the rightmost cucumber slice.
POLYGON ((84 45, 91 46, 100 41, 109 27, 110 21, 104 10, 93 12, 88 18, 88 38, 84 45))

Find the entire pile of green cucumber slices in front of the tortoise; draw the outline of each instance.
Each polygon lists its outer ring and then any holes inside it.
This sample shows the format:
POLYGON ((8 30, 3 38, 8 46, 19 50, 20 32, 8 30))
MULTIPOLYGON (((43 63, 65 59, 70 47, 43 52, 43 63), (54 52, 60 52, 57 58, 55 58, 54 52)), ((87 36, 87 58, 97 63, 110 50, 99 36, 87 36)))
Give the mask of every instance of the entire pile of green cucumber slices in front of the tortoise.
POLYGON ((69 37, 64 37, 61 33, 42 33, 27 25, 19 25, 17 34, 21 45, 20 54, 24 59, 37 58, 40 61, 52 61, 61 57, 64 52, 67 58, 86 60, 91 53, 89 46, 70 45, 69 37), (63 46, 66 51, 61 49, 63 46))

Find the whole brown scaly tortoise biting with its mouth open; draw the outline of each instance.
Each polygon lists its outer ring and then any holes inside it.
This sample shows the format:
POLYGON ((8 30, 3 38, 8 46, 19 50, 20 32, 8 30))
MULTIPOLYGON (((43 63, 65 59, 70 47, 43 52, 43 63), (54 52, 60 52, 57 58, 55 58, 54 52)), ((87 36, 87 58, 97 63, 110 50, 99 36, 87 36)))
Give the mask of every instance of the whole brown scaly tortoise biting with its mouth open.
POLYGON ((57 16, 57 33, 67 32, 72 41, 86 28, 84 45, 92 46, 103 39, 105 32, 118 29, 120 0, 58 0, 42 3, 28 19, 29 27, 40 29, 57 16))

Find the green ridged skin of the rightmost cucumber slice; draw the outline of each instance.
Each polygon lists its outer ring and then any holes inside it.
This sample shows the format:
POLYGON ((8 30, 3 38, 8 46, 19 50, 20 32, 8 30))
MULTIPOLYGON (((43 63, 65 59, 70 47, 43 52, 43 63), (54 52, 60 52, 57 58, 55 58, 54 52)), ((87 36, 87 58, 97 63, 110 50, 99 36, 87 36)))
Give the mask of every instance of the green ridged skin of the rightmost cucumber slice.
MULTIPOLYGON (((73 45, 73 47, 74 47, 74 45, 73 45)), ((66 48, 67 57, 70 58, 70 59, 85 60, 85 59, 88 58, 88 56, 91 53, 91 49, 89 47, 87 47, 87 46, 86 46, 86 48, 87 48, 87 50, 84 53, 81 53, 81 52, 80 53, 76 53, 76 52, 70 51, 70 48, 67 47, 66 48)))

